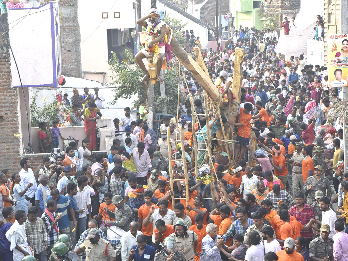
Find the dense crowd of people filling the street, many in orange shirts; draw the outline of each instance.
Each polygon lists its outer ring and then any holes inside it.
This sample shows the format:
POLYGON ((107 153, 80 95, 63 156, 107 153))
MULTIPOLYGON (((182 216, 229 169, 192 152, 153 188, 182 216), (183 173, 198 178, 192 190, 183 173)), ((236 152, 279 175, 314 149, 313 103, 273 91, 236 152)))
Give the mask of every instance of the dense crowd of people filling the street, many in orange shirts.
MULTIPOLYGON (((200 47, 193 32, 184 36, 200 47)), ((277 54, 277 37, 275 30, 240 28, 223 50, 220 44, 216 52, 202 50, 227 110, 236 106, 235 50, 245 50, 236 122, 204 106, 204 90, 184 68, 184 102, 175 117, 163 118, 158 139, 142 100, 139 119, 129 107, 114 119, 115 131, 124 133, 110 153, 96 152, 98 95, 74 89, 72 114, 80 123, 80 109, 85 116, 81 146, 71 142, 61 151, 54 139, 47 144, 51 133, 61 134, 41 122, 40 150, 51 152, 42 168, 33 170, 23 158, 18 173, 0 173, 0 260, 348 260, 345 141, 341 123, 327 122, 339 90, 327 84, 325 67, 306 64, 303 55, 277 54), (236 131, 232 160, 225 146, 213 143, 209 166, 207 132, 216 136, 227 125, 236 131)))

